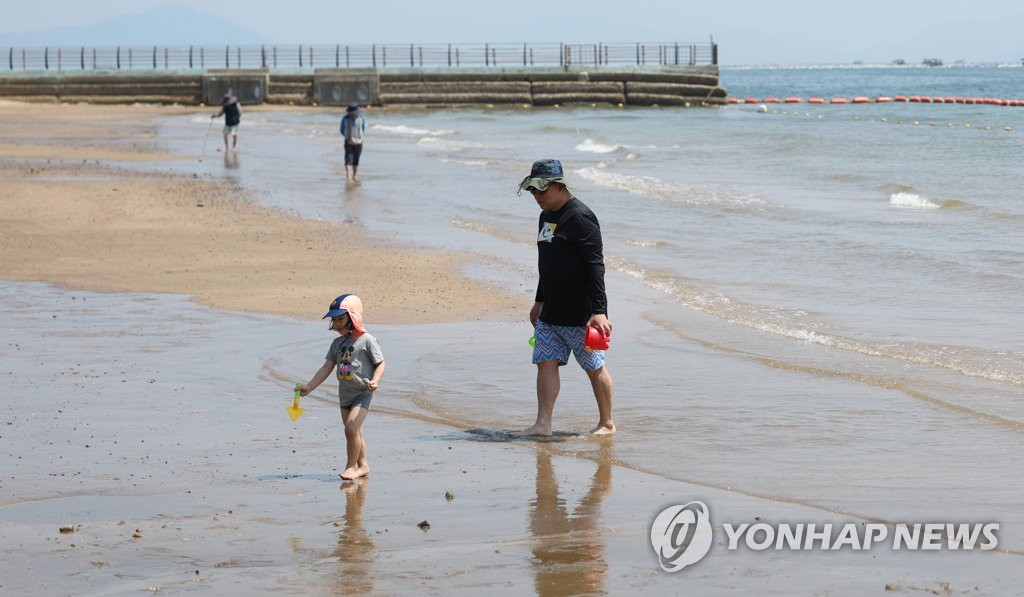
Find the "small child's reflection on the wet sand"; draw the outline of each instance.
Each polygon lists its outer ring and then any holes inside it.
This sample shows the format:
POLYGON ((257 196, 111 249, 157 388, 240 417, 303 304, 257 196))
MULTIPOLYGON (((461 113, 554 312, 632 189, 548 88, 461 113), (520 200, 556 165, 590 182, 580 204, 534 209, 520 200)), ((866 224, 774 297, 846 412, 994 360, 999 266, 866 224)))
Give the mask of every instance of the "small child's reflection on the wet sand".
POLYGON ((362 527, 362 504, 367 500, 369 477, 361 477, 341 485, 345 494, 345 515, 338 548, 331 556, 338 558, 339 595, 370 595, 374 593, 374 560, 377 546, 362 527))

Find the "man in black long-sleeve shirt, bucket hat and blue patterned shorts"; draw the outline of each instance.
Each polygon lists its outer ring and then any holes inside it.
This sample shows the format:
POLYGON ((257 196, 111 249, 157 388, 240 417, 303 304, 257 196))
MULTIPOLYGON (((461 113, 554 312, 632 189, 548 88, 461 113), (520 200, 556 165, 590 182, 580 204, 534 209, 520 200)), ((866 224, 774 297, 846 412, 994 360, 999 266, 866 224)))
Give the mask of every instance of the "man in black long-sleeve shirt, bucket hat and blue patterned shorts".
POLYGON ((558 160, 539 160, 519 183, 543 210, 538 225, 540 281, 529 322, 534 325, 537 365, 537 422, 520 435, 551 435, 551 417, 561 382, 558 368, 571 352, 590 378, 598 422, 591 433, 615 432, 611 418, 614 383, 604 366, 604 350, 585 347, 587 328, 611 336, 604 292, 604 248, 594 212, 573 197, 558 160))

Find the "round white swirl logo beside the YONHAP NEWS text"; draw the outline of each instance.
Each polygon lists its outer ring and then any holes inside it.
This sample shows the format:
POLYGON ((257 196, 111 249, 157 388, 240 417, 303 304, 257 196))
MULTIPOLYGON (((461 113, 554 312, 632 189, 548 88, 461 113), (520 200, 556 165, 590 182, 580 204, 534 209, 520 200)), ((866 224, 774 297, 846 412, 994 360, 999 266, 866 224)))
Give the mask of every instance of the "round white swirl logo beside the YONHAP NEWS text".
POLYGON ((703 502, 670 506, 650 525, 650 545, 667 572, 700 561, 711 551, 711 516, 703 502))

